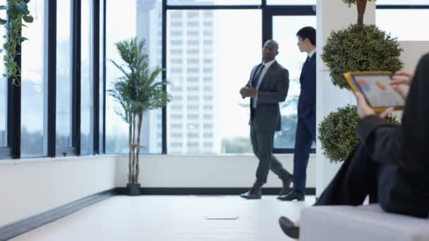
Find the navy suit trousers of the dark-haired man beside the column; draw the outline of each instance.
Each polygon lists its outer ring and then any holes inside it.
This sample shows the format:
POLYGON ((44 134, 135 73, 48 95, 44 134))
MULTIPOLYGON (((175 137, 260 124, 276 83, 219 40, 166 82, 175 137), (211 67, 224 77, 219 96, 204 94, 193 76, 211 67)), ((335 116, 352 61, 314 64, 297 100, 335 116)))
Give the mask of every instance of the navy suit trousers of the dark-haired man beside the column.
POLYGON ((308 157, 310 156, 311 144, 313 144, 314 140, 310 128, 302 118, 298 118, 294 149, 295 192, 304 192, 306 190, 308 157))

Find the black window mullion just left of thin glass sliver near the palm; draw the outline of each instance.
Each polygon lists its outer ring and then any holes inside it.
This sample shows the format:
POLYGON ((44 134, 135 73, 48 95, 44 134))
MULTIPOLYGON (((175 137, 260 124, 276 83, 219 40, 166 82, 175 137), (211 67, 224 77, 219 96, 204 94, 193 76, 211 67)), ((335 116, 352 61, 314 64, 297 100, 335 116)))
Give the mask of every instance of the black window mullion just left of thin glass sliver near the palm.
POLYGON ((92 35, 93 37, 93 52, 92 52, 92 68, 93 68, 93 83, 94 86, 92 87, 93 92, 93 105, 94 106, 94 126, 93 126, 93 154, 99 154, 99 1, 100 0, 93 0, 92 1, 92 19, 93 19, 93 28, 92 28, 92 35))

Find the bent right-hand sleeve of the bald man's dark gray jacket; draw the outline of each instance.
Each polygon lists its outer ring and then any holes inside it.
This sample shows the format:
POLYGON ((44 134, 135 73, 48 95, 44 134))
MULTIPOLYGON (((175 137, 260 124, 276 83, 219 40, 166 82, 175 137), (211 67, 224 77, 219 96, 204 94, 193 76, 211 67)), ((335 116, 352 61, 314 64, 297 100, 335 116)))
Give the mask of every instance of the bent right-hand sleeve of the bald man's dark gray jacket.
POLYGON ((274 92, 258 91, 258 103, 279 103, 286 99, 289 90, 289 71, 279 70, 277 86, 274 92))

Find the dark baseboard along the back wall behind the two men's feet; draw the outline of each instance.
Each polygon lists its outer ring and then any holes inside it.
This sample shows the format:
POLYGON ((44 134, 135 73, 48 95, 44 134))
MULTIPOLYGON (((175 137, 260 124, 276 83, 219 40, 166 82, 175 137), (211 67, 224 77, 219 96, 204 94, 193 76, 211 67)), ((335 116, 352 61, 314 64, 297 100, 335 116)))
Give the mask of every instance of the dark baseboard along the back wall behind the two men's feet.
MULTIPOLYGON (((142 187, 143 195, 238 195, 247 192, 249 187, 142 187)), ((266 187, 262 189, 262 194, 277 195, 280 192, 278 187, 266 187)), ((116 187, 116 193, 126 194, 126 187, 116 187)), ((315 187, 306 188, 307 195, 315 195, 315 187)))

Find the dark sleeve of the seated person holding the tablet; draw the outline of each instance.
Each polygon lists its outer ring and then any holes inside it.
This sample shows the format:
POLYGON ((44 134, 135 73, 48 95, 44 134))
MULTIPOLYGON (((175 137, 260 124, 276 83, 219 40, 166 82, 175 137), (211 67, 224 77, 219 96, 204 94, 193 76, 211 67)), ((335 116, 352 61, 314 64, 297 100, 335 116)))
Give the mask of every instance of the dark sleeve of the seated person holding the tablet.
POLYGON ((400 125, 389 123, 379 116, 362 118, 356 132, 371 159, 378 163, 389 163, 404 167, 400 125))

